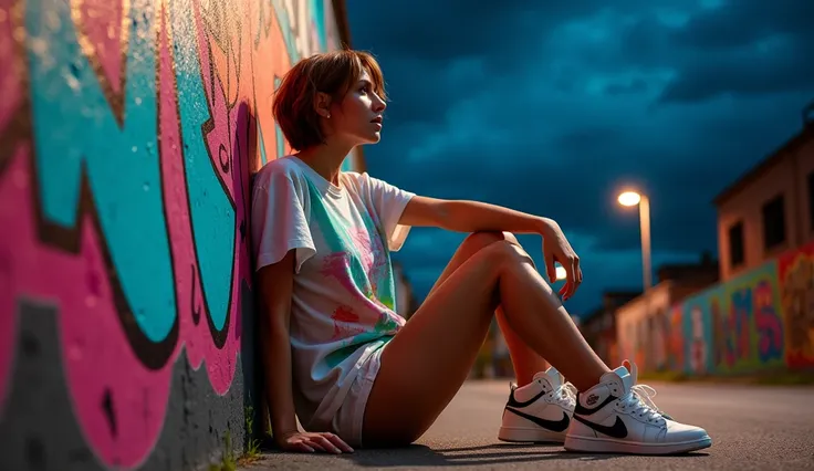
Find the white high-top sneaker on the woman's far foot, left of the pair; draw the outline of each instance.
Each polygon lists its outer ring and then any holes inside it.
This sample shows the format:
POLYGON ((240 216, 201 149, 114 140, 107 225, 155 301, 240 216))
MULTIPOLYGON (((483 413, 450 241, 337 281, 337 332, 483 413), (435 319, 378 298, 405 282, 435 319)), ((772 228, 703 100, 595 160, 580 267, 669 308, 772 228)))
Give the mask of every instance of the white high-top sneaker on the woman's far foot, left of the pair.
POLYGON ((574 388, 554 367, 534 375, 518 388, 510 385, 509 401, 498 438, 512 442, 562 443, 576 404, 574 388))

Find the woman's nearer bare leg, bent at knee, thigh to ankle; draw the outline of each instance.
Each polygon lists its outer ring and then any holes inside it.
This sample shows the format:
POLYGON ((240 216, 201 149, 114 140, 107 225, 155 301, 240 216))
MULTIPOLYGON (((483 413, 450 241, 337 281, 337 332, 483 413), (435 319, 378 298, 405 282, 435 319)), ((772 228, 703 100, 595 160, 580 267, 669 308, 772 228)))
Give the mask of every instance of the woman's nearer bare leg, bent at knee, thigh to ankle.
POLYGON ((497 241, 463 262, 385 348, 365 411, 365 446, 424 435, 466 379, 498 305, 523 342, 580 390, 609 370, 529 254, 497 241))

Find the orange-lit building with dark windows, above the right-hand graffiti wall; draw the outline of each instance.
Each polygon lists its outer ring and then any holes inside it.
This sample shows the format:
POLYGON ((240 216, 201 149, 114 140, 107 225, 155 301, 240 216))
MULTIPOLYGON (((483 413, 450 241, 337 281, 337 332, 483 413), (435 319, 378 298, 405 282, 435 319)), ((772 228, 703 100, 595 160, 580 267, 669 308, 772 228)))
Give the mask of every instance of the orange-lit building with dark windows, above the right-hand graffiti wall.
POLYGON ((714 205, 723 282, 814 240, 814 103, 802 129, 714 205))

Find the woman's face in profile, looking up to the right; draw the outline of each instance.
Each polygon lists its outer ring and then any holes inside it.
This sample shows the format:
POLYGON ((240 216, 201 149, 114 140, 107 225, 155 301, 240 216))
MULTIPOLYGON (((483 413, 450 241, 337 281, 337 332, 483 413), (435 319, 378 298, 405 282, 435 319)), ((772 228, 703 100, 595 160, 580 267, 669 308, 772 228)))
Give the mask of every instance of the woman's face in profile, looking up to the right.
POLYGON ((365 71, 342 102, 331 106, 328 121, 333 132, 353 145, 376 144, 382 138, 382 113, 386 107, 365 71))

